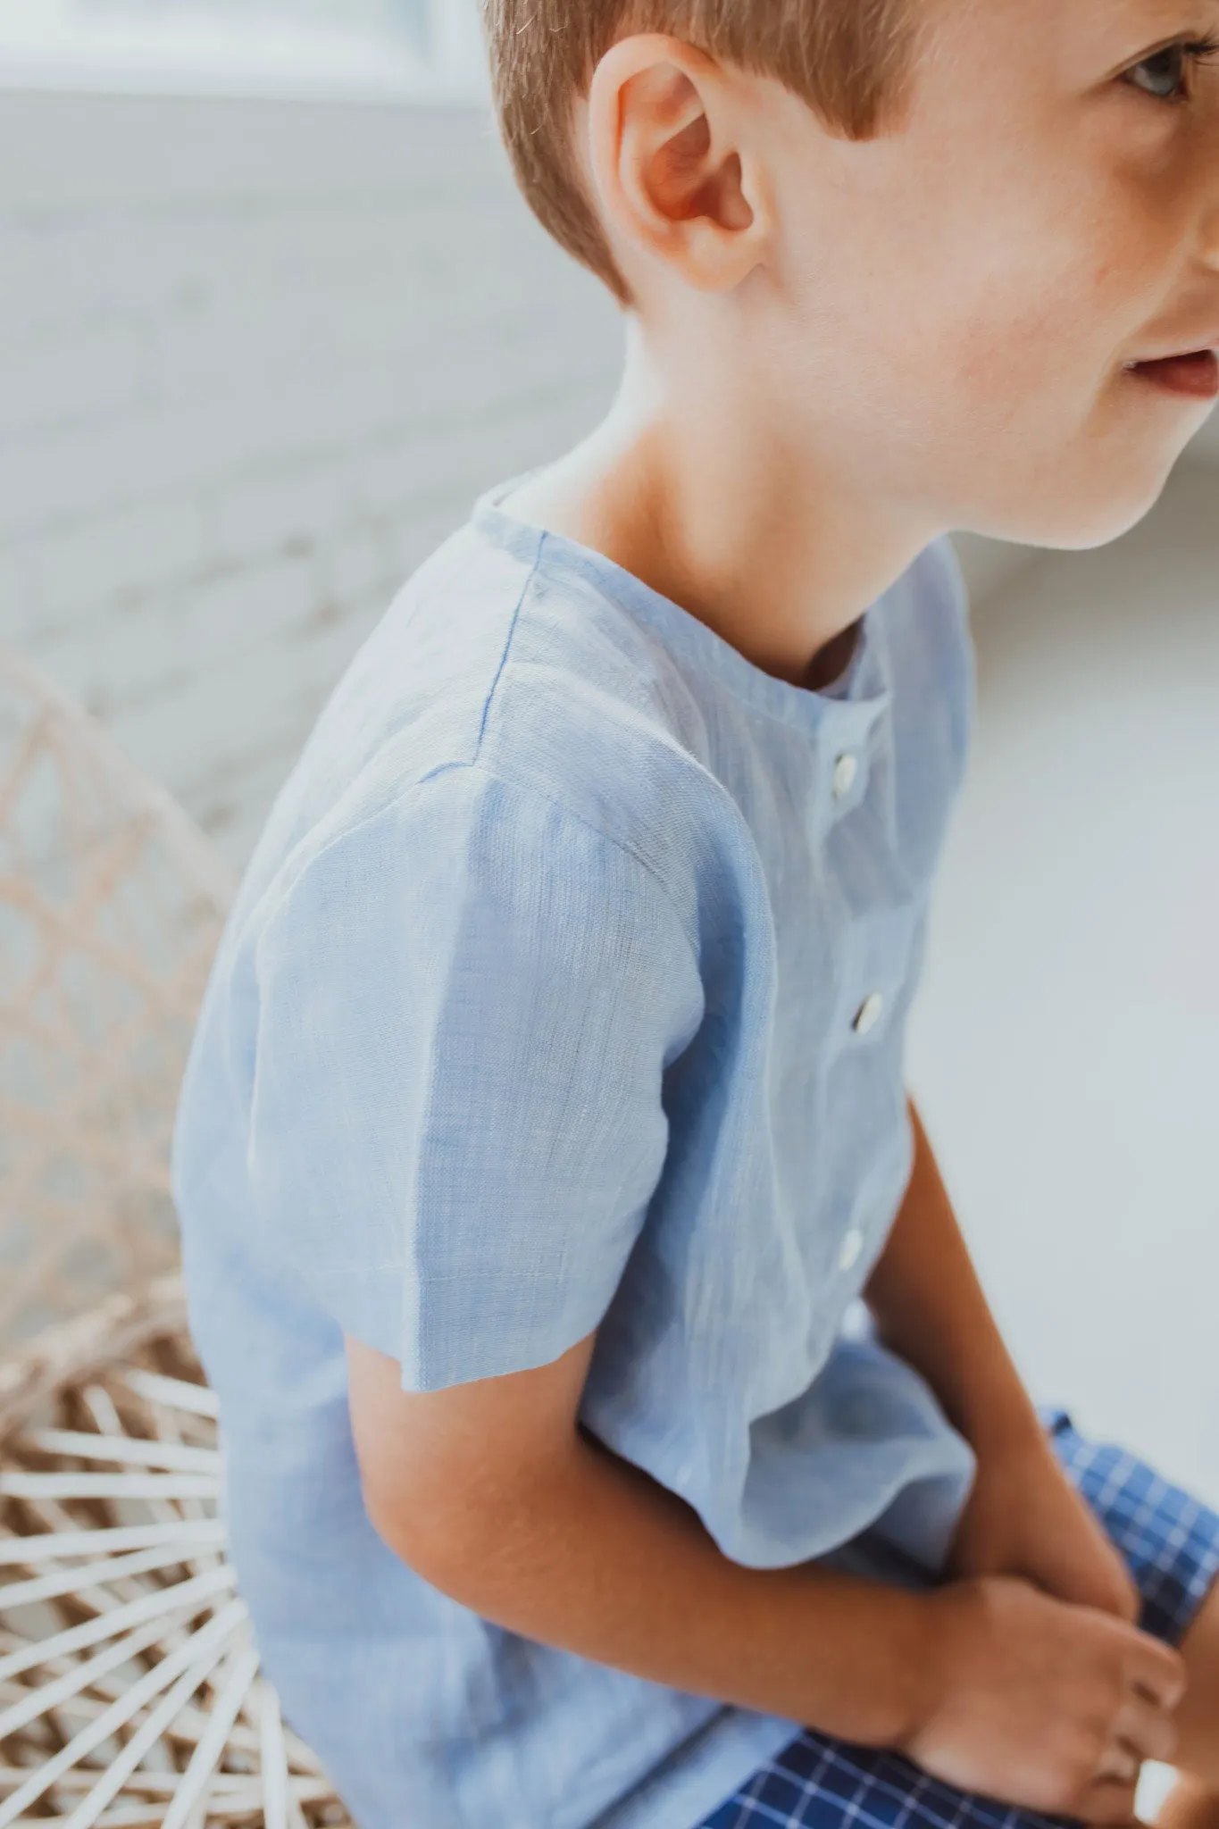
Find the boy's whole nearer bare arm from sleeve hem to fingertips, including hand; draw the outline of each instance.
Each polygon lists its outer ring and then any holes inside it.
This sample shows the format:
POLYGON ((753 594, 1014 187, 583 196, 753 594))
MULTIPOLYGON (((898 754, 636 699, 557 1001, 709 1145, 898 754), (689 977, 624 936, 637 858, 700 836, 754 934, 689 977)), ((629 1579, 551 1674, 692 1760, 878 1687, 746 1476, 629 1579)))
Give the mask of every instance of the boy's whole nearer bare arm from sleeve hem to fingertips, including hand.
POLYGON ((910 1593, 731 1562, 680 1498, 579 1432, 592 1344, 419 1394, 347 1339, 364 1502, 424 1580, 652 1683, 897 1747, 1033 1809, 1129 1820, 1111 1761, 1122 1741, 1171 1750, 1175 1653, 1022 1580, 910 1593))

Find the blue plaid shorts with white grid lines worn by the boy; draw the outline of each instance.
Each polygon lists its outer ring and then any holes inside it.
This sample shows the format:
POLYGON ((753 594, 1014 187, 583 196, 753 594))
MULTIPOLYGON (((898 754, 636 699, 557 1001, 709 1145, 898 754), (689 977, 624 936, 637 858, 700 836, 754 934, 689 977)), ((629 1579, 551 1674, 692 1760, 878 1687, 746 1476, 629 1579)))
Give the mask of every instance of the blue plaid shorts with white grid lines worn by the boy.
MULTIPOLYGON (((1087 1441, 1065 1410, 1044 1410, 1042 1421, 1129 1564, 1142 1593, 1142 1630, 1181 1644, 1219 1575, 1219 1514, 1124 1449, 1087 1441)), ((901 1754, 806 1728, 698 1829, 1044 1829, 1062 1822, 958 1791, 901 1754)))

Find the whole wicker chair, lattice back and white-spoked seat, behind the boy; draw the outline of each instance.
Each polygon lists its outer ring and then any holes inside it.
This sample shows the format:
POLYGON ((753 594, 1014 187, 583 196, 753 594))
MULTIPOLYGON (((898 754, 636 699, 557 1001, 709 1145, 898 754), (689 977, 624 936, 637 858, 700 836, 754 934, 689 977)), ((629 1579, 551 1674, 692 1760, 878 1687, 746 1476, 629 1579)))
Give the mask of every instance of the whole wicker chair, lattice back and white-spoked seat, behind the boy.
POLYGON ((344 1824, 258 1674, 168 1141, 232 876, 0 653, 0 1829, 344 1824))

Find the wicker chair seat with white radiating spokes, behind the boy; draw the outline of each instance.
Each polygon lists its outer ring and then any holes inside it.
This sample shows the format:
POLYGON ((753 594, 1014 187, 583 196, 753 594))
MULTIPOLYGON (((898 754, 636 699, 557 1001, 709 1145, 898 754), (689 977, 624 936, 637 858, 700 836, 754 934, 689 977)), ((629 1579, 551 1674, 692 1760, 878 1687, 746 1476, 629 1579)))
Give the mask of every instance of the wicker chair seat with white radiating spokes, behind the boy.
POLYGON ((258 1674, 177 1277, 0 1368, 0 1829, 351 1829, 258 1674))

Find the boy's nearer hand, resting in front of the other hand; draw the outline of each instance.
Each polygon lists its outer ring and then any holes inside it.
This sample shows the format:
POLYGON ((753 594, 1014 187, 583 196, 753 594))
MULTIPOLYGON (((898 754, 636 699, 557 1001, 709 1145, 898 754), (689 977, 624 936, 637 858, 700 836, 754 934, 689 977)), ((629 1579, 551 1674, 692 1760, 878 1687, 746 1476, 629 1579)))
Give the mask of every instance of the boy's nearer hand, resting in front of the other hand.
POLYGON ((1177 1652, 1007 1575, 932 1591, 928 1626, 930 1701, 901 1752, 1022 1809, 1133 1820, 1142 1761, 1177 1745, 1177 1652))

